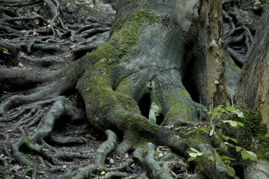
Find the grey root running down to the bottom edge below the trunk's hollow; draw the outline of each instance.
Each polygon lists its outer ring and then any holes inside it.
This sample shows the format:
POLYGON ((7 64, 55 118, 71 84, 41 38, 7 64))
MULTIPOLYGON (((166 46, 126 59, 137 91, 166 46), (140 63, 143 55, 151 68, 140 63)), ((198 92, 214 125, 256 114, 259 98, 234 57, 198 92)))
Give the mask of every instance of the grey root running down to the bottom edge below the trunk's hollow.
POLYGON ((168 179, 172 178, 165 170, 162 168, 158 162, 155 161, 155 146, 152 143, 147 144, 148 155, 145 159, 145 164, 152 178, 158 179, 168 179))

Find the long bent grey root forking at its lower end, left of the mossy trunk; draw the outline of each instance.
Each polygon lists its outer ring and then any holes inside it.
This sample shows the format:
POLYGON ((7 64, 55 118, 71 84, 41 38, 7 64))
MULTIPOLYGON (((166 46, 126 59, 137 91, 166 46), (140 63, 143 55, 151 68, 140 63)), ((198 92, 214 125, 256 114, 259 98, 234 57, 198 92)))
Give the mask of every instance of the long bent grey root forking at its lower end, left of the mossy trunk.
POLYGON ((47 150, 39 147, 39 145, 35 145, 35 143, 49 137, 53 130, 54 123, 62 116, 67 116, 73 120, 80 118, 80 116, 76 113, 76 109, 72 106, 72 103, 66 98, 60 96, 55 99, 51 109, 43 118, 43 125, 36 132, 31 133, 28 137, 17 139, 12 143, 11 146, 14 158, 19 163, 33 170, 31 175, 35 175, 33 173, 35 173, 36 169, 32 167, 34 166, 33 163, 27 160, 25 156, 19 152, 19 148, 25 144, 28 148, 39 153, 41 156, 51 159, 47 150))

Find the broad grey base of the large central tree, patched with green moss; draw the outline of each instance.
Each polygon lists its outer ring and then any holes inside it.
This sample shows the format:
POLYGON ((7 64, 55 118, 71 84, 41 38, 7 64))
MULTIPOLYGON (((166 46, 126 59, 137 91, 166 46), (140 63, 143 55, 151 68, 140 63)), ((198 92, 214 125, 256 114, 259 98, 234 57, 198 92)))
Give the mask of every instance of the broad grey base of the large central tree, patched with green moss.
MULTIPOLYGON (((187 43, 196 36, 198 1, 120 1, 109 40, 79 61, 84 71, 77 83, 91 125, 101 132, 123 136, 121 149, 137 149, 152 142, 186 156, 190 145, 213 158, 209 145, 181 140, 162 126, 198 119, 197 108, 182 83, 187 43), (181 12, 181 13, 178 13, 181 12), (138 102, 149 95, 149 117, 162 114, 164 121, 141 115, 138 102)), ((187 157, 187 156, 186 156, 187 157)), ((197 173, 212 178, 206 159, 196 162, 197 173)), ((218 178, 226 168, 217 165, 218 178)), ((203 176, 203 177, 204 177, 203 176)))

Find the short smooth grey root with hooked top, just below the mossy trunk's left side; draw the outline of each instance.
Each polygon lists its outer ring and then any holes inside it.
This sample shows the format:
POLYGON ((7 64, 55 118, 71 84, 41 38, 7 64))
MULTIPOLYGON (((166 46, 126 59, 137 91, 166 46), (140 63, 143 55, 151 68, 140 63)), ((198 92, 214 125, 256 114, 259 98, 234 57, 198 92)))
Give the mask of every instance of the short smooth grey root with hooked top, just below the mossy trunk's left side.
POLYGON ((117 136, 111 130, 106 130, 105 134, 107 136, 107 140, 103 142, 99 148, 96 150, 96 158, 95 165, 103 166, 105 164, 106 156, 114 150, 115 145, 117 143, 117 136))

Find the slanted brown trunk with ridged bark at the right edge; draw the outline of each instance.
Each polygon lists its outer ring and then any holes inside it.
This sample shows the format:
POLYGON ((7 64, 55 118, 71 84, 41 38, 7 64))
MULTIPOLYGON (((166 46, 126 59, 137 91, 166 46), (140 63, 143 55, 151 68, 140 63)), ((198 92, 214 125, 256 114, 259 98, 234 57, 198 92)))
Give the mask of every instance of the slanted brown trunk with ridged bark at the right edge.
MULTIPOLYGON (((237 91, 237 101, 251 109, 259 109, 263 123, 269 127, 269 1, 266 1, 255 34, 248 62, 237 91)), ((268 134, 268 133, 267 133, 268 134)))

